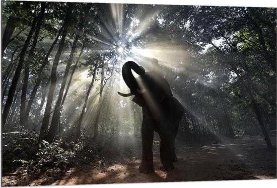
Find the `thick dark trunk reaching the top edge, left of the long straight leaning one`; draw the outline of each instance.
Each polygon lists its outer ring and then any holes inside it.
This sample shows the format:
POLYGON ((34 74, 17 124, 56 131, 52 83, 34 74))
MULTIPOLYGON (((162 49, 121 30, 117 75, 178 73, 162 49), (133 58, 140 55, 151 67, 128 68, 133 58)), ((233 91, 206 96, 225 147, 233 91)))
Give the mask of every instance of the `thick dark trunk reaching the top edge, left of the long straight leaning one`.
POLYGON ((57 53, 55 55, 52 70, 51 70, 51 84, 50 84, 50 88, 49 88, 49 92, 48 92, 48 97, 47 97, 45 112, 44 112, 44 116, 43 116, 43 120, 42 120, 42 125, 40 128, 39 139, 43 139, 47 134, 48 124, 49 124, 49 120, 50 120, 51 106, 52 106, 52 101, 53 101, 53 95, 54 95, 54 90, 55 90, 56 82, 57 82, 56 70, 57 70, 60 55, 63 50, 67 30, 70 26, 70 22, 71 22, 71 18, 72 18, 72 3, 67 3, 67 6, 68 7, 67 7, 67 12, 65 15, 64 23, 63 23, 62 36, 60 39, 60 44, 59 44, 57 53))

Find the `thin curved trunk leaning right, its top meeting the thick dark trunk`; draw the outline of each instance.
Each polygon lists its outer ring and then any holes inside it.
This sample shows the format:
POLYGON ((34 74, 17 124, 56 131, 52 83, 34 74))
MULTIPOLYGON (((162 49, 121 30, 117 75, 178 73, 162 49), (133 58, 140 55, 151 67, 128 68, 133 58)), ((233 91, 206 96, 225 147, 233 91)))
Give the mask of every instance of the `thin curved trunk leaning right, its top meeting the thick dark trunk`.
POLYGON ((26 122, 27 123, 28 123, 31 107, 33 105, 33 102, 34 102, 34 99, 35 99, 35 96, 36 96, 37 89, 38 89, 38 87, 40 85, 40 82, 42 81, 42 72, 43 72, 43 69, 48 64, 48 58, 49 58, 49 56, 50 56, 54 46, 56 45, 62 30, 63 30, 63 26, 59 29, 58 34, 57 34, 54 42, 52 43, 51 47, 49 48, 49 50, 48 50, 48 52, 47 52, 47 54, 46 54, 46 56, 44 58, 44 61, 43 61, 43 63, 41 64, 41 66, 39 68, 37 80, 36 80, 35 86, 34 86, 34 88, 32 90, 32 93, 31 93, 31 96, 30 96, 30 99, 29 99, 29 102, 28 102, 28 105, 27 105, 27 108, 26 108, 26 122))

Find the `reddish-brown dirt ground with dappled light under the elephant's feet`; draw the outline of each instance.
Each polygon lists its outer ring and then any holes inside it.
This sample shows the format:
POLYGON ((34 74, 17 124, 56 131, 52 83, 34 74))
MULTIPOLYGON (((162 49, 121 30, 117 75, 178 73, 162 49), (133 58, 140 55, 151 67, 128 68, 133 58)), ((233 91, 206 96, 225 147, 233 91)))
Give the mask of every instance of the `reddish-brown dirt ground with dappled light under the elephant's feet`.
MULTIPOLYGON (((123 145, 128 142, 126 140, 123 145)), ((272 143, 276 146, 275 137, 272 138, 272 143)), ((24 178, 4 174, 2 186, 276 178, 276 149, 266 149, 264 139, 258 136, 236 136, 220 138, 218 141, 178 144, 178 161, 174 162, 175 168, 172 171, 159 169, 159 142, 156 141, 153 149, 155 172, 149 174, 138 172, 141 162, 140 147, 122 147, 117 154, 94 163, 71 166, 58 175, 49 170, 26 175, 24 178)))

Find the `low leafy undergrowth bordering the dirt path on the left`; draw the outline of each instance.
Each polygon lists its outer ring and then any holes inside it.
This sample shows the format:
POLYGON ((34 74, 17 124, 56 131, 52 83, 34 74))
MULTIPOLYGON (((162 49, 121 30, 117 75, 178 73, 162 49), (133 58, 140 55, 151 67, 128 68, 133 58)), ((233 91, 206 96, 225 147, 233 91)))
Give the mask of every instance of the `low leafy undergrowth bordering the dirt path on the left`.
POLYGON ((21 130, 3 134, 2 157, 3 176, 26 176, 50 173, 54 176, 73 166, 94 165, 120 155, 128 155, 134 148, 125 139, 110 139, 105 143, 93 142, 83 136, 78 142, 55 140, 38 142, 38 133, 21 130))

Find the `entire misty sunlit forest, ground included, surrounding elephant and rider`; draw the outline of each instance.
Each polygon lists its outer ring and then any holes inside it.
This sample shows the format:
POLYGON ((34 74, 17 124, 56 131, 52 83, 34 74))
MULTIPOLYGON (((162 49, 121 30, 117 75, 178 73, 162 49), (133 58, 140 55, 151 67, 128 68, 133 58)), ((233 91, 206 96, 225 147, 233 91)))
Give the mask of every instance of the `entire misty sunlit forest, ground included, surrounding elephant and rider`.
POLYGON ((1 3, 3 186, 276 178, 276 8, 1 3), (142 174, 143 111, 117 92, 153 58, 184 114, 175 169, 155 133, 142 174))

